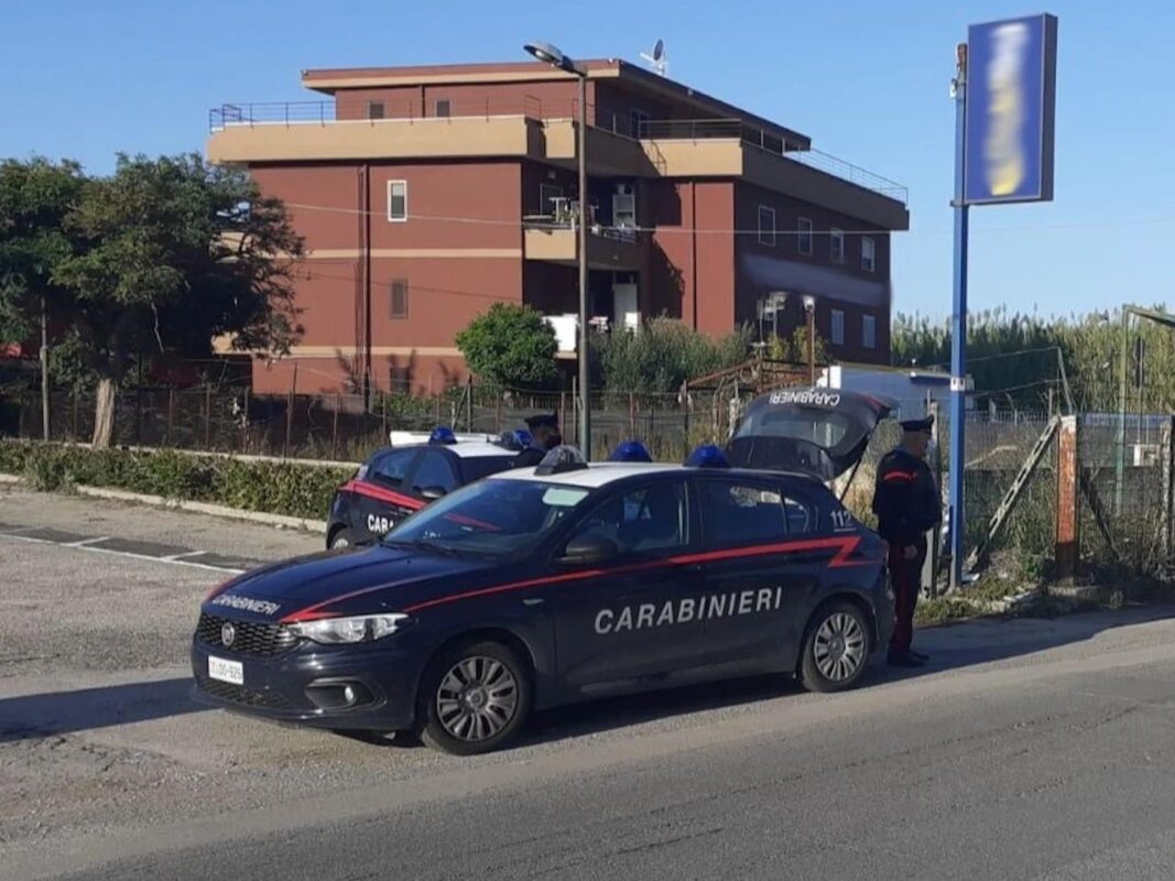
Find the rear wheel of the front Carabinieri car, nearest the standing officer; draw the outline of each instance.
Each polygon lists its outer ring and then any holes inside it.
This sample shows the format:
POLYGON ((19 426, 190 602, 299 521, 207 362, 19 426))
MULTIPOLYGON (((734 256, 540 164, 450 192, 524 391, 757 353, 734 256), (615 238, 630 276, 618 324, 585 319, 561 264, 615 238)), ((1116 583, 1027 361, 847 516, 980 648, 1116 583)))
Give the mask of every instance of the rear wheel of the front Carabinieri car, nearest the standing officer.
POLYGON ((821 606, 808 623, 800 659, 800 679, 813 692, 852 688, 865 673, 872 652, 865 614, 852 603, 821 606))

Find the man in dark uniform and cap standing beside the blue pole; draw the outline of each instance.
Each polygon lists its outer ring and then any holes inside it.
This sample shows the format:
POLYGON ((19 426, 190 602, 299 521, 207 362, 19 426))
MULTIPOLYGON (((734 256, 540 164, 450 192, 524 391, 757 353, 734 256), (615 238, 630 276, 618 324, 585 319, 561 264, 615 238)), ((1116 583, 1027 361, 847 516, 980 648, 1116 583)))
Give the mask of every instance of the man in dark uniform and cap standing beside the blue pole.
POLYGON ((889 544, 897 621, 888 659, 897 667, 918 667, 928 660, 914 652, 911 643, 926 561, 926 533, 942 518, 939 489, 925 460, 933 426, 933 416, 901 423, 901 443, 881 459, 873 493, 878 533, 889 544))

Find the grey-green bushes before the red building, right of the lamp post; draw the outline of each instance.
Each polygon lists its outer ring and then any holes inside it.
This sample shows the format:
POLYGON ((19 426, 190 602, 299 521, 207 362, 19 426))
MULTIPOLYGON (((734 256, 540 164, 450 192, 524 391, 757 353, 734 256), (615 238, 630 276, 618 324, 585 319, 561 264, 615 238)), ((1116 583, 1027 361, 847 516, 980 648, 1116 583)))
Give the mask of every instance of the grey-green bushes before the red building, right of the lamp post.
POLYGON ((596 337, 593 356, 605 391, 669 394, 745 361, 750 344, 750 328, 716 339, 673 318, 653 318, 639 334, 596 337))

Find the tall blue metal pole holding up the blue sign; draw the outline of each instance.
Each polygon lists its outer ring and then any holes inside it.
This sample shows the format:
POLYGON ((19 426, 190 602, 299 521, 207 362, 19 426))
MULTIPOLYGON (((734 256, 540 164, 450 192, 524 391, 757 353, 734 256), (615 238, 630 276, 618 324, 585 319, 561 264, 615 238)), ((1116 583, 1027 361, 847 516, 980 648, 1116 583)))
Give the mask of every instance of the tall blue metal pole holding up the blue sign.
POLYGON ((960 53, 955 82, 954 316, 951 327, 951 589, 962 584, 964 456, 967 418, 967 62, 960 53))

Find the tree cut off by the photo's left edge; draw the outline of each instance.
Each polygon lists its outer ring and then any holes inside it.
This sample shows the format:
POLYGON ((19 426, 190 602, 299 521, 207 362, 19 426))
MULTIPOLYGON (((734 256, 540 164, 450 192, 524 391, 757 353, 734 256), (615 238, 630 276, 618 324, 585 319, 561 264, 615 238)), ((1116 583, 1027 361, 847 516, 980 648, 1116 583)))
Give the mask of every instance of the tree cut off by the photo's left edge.
POLYGON ((76 162, 43 157, 0 162, 0 342, 41 336, 42 431, 49 437, 48 325, 72 308, 54 283, 58 268, 81 242, 66 218, 78 207, 83 177, 76 162))

